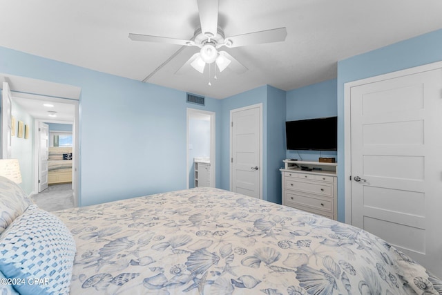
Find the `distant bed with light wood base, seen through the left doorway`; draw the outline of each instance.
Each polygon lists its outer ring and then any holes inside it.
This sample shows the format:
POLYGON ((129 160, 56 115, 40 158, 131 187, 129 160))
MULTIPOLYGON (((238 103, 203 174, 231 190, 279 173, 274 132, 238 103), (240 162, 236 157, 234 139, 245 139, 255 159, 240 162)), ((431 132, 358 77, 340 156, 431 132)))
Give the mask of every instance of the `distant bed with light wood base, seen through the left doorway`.
POLYGON ((72 148, 50 147, 48 153, 48 184, 72 182, 72 148))

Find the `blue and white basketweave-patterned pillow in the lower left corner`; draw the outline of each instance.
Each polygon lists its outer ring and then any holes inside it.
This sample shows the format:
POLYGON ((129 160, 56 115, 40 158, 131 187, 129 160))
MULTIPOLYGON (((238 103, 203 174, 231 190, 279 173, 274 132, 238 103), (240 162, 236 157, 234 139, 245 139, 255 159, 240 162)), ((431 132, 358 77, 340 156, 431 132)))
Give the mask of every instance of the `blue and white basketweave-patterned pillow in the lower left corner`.
POLYGON ((59 218, 32 204, 0 235, 0 271, 20 294, 69 294, 75 241, 59 218))

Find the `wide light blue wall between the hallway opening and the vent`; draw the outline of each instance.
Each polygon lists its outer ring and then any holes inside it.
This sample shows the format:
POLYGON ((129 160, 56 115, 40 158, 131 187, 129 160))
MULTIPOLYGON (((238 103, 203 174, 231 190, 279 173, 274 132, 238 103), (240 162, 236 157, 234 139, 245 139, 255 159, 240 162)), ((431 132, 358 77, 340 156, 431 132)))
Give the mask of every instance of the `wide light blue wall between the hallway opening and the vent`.
MULTIPOLYGON (((0 73, 81 87, 82 206, 186 188, 186 93, 8 48, 0 57, 0 73)), ((219 105, 206 97, 203 109, 219 105)))

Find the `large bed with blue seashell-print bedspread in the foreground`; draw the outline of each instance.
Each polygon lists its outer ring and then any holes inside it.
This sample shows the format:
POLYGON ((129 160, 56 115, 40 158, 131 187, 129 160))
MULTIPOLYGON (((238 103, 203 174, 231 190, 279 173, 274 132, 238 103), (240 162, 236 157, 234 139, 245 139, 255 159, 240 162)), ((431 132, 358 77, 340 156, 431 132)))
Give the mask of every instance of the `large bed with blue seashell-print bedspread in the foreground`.
MULTIPOLYGON (((19 209, 3 212, 12 217, 3 218, 0 274, 5 282, 10 273, 46 278, 32 287, 47 294, 442 294, 439 278, 381 238, 237 193, 196 188, 51 214, 12 184, 0 178, 0 204, 12 206, 8 195, 21 199, 19 209), (23 231, 55 224, 47 235, 63 236, 51 238, 56 250, 48 256, 59 258, 47 263, 57 265, 51 274, 37 265, 46 255, 23 246, 27 238, 17 234, 22 216, 35 211, 46 216, 45 226, 33 220, 23 231), (28 263, 23 252, 41 258, 28 263)), ((2 286, 23 289, 0 284, 0 294, 2 286)))

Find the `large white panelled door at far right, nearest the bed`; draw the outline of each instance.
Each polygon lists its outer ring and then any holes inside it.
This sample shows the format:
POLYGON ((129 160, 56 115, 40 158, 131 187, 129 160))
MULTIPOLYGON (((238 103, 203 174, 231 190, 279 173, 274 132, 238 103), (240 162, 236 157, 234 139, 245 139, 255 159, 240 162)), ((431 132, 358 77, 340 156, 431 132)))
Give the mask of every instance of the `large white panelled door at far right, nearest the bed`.
POLYGON ((442 69, 351 89, 352 225, 442 275, 442 69))

